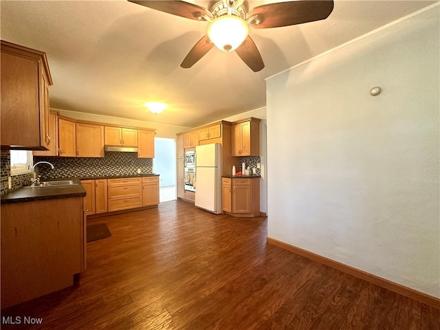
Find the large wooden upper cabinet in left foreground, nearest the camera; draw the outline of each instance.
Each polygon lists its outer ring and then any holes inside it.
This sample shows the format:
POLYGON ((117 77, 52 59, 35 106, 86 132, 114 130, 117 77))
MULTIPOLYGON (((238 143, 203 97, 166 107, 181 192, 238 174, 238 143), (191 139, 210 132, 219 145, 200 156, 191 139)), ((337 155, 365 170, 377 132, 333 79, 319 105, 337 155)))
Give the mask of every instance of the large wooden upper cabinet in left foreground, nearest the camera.
POLYGON ((49 89, 52 85, 44 52, 1 41, 1 146, 47 150, 49 89))

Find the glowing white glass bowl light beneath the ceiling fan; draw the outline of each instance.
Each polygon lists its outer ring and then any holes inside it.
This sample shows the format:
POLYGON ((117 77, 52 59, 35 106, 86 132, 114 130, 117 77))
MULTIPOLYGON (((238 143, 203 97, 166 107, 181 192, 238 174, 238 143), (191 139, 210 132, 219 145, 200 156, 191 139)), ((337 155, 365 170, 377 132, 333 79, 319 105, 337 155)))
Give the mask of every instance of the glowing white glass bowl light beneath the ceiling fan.
POLYGON ((240 17, 223 15, 208 26, 208 37, 219 50, 231 52, 239 47, 248 36, 248 24, 240 17))

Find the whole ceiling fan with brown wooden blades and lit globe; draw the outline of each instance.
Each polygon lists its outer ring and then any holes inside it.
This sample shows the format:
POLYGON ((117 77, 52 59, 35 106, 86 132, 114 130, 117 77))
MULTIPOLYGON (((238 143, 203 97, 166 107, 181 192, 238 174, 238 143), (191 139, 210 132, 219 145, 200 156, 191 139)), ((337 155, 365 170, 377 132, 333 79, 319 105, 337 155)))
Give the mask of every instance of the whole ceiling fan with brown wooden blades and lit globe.
POLYGON ((278 28, 327 19, 333 10, 331 0, 294 0, 268 3, 248 10, 244 0, 215 1, 210 10, 180 0, 128 0, 168 14, 208 21, 208 31, 192 47, 181 67, 192 67, 216 45, 220 50, 240 56, 250 69, 259 72, 264 67, 263 58, 252 38, 248 25, 256 29, 278 28))

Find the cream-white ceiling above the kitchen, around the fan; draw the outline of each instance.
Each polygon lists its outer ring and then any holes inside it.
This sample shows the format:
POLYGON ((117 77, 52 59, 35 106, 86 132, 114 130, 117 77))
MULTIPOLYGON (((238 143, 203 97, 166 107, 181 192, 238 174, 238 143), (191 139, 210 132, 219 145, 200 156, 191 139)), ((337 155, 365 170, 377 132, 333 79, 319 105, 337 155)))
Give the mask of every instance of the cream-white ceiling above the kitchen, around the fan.
POLYGON ((265 107, 265 78, 438 1, 334 2, 324 21, 250 28, 265 63, 257 73, 215 47, 182 69, 208 23, 125 0, 1 0, 1 39, 46 52, 51 108, 193 127, 265 107), (153 115, 146 101, 168 109, 153 115))

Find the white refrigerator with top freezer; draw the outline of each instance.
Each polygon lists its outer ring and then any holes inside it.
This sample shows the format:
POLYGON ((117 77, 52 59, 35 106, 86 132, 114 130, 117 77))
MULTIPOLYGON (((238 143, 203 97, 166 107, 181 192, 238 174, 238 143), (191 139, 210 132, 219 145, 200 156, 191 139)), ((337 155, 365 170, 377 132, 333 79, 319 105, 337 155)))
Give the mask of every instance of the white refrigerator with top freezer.
POLYGON ((221 144, 195 147, 195 206, 221 214, 221 144))

